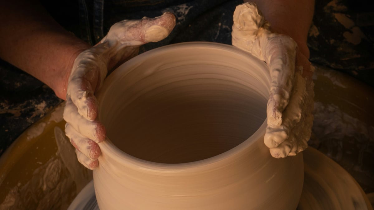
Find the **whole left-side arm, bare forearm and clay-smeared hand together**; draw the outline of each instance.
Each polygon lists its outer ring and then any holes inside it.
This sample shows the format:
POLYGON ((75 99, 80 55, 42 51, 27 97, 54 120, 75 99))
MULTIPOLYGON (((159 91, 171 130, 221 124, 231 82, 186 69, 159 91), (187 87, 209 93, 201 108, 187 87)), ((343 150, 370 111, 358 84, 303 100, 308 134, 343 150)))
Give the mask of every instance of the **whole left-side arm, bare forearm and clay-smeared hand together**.
POLYGON ((1 1, 0 17, 0 57, 67 100, 65 133, 78 160, 93 169, 101 154, 98 142, 106 137, 94 92, 107 72, 137 55, 141 44, 165 38, 174 15, 121 21, 94 47, 65 31, 38 1, 1 1))

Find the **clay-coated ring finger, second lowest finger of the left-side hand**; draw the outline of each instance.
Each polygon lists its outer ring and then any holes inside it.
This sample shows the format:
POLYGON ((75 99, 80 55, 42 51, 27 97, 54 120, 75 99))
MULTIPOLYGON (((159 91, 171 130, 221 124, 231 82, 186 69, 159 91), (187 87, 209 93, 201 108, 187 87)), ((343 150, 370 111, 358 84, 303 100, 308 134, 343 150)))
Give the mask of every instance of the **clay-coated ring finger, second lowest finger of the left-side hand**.
POLYGON ((65 133, 70 139, 71 144, 90 160, 97 160, 99 158, 101 150, 96 142, 82 136, 68 123, 65 126, 65 133))

